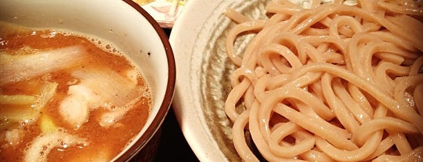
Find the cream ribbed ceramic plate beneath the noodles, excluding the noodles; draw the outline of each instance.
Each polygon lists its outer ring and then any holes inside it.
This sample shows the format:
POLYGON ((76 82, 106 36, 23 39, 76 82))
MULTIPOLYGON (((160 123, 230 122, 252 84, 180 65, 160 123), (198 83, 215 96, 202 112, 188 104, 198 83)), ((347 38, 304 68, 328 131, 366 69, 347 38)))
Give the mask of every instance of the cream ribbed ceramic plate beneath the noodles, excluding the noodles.
MULTIPOLYGON (((173 110, 200 161, 241 161, 232 143, 232 123, 224 112, 235 66, 225 54, 227 32, 235 25, 227 8, 251 19, 265 17, 265 0, 189 0, 176 20, 170 42, 176 58, 173 110)), ((243 50, 252 35, 236 42, 243 50)), ((176 146, 177 147, 177 146, 176 146)))

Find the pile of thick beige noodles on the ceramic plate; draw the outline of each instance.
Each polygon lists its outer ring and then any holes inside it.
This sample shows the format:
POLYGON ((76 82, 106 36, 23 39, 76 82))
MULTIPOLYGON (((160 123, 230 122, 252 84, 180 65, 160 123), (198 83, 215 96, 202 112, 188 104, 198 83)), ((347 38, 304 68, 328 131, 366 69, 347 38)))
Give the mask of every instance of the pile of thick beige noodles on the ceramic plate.
POLYGON ((225 12, 238 23, 225 112, 243 161, 423 161, 422 1, 350 2, 225 12))

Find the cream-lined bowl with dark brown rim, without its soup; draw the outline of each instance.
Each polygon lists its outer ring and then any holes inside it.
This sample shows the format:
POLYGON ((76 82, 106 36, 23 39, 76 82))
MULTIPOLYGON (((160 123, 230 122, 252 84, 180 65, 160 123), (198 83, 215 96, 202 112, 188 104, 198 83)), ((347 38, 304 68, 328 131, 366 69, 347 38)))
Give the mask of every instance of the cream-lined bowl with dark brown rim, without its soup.
POLYGON ((113 161, 129 161, 137 154, 144 154, 144 160, 153 158, 157 142, 145 147, 149 141, 157 141, 153 136, 160 136, 173 98, 176 68, 167 35, 146 11, 131 0, 5 0, 0 3, 0 20, 32 28, 73 30, 119 47, 142 70, 153 105, 141 132, 113 161))

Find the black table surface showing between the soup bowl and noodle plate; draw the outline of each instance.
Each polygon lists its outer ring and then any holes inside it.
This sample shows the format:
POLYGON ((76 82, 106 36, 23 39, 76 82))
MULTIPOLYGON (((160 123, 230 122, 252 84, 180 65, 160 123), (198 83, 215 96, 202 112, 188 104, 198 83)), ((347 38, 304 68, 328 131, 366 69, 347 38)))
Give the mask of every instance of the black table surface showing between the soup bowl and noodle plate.
MULTIPOLYGON (((171 29, 163 30, 169 37, 171 29)), ((160 141, 154 161, 198 161, 180 130, 172 107, 162 123, 160 141)))

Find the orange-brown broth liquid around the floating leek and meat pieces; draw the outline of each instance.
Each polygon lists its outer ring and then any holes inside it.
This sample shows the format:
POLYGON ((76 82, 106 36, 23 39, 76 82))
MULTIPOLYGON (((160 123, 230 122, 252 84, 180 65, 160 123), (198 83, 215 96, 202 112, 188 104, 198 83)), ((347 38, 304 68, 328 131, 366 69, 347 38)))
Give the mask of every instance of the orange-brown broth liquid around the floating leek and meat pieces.
MULTIPOLYGON (((124 76, 126 70, 134 68, 122 54, 105 51, 109 49, 109 45, 107 45, 107 48, 102 48, 96 45, 97 40, 94 40, 96 39, 74 34, 60 34, 53 30, 43 30, 37 31, 36 34, 0 38, 0 41, 2 41, 0 43, 0 51, 13 53, 16 50, 28 47, 47 50, 70 45, 83 45, 88 50, 89 56, 86 61, 82 62, 75 69, 87 68, 89 66, 108 66, 124 76)), ((131 142, 133 137, 140 132, 142 125, 146 123, 151 105, 151 95, 148 93, 149 95, 141 97, 142 99, 135 104, 134 108, 129 110, 123 119, 110 128, 104 128, 98 123, 100 115, 107 110, 97 108, 90 112, 88 122, 84 123, 82 128, 74 129, 62 119, 62 116, 58 112, 58 106, 67 95, 68 82, 75 80, 70 74, 71 70, 75 69, 60 70, 30 79, 30 81, 49 81, 59 84, 55 97, 52 101, 48 102, 40 113, 54 119, 57 127, 64 128, 67 133, 88 139, 89 142, 87 146, 82 148, 55 148, 48 154, 48 159, 49 161, 90 161, 89 159, 95 158, 95 156, 107 156, 111 160, 124 149, 127 143, 131 142)), ((138 78, 138 85, 148 90, 142 75, 138 78)), ((1 86, 0 94, 33 94, 37 91, 34 90, 35 87, 28 85, 28 81, 12 82, 1 86)), ((6 110, 6 108, 0 108, 0 113, 3 110, 6 110)), ((6 122, 6 119, 0 119, 0 122, 6 122)), ((0 130, 0 161, 22 161, 23 150, 35 136, 41 133, 38 121, 23 125, 22 128, 23 132, 25 132, 25 138, 21 139, 19 144, 16 145, 10 145, 5 140, 7 129, 0 130)))

